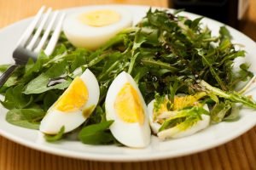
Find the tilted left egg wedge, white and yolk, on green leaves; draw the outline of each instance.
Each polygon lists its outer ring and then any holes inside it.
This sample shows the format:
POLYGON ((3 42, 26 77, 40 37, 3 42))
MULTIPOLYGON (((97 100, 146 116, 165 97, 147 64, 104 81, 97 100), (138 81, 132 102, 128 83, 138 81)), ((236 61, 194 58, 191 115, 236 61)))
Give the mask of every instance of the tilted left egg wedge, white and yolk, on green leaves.
POLYGON ((100 96, 96 77, 86 69, 80 77, 75 77, 70 86, 47 111, 40 124, 40 131, 58 133, 62 126, 65 133, 79 127, 94 111, 100 96))

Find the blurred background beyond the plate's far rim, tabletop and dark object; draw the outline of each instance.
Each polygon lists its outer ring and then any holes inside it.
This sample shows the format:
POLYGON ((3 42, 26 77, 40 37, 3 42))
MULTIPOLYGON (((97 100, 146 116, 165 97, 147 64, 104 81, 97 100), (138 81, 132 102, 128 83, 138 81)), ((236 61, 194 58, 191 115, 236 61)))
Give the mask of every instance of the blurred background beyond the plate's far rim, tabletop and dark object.
POLYGON ((29 3, 23 0, 0 0, 0 28, 32 16, 43 4, 53 8, 70 8, 109 3, 184 8, 233 26, 256 41, 256 0, 61 0, 61 3, 52 0, 29 0, 29 3))

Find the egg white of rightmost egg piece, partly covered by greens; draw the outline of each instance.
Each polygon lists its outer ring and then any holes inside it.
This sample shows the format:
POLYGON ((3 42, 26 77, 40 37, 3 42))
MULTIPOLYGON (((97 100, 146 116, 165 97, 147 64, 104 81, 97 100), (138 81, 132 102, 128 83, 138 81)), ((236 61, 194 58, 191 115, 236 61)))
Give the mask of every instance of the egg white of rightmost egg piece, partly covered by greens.
MULTIPOLYGON (((175 127, 167 128, 167 129, 159 132, 162 124, 160 124, 160 122, 154 121, 154 102, 155 102, 155 99, 152 100, 148 104, 149 123, 150 123, 150 127, 151 127, 152 131, 155 134, 157 134, 159 139, 162 139, 162 140, 168 139, 168 138, 175 139, 175 138, 182 138, 185 136, 189 136, 191 134, 194 134, 194 133, 206 128, 210 124, 210 116, 206 115, 206 114, 201 114, 201 120, 199 120, 198 122, 195 122, 195 124, 192 127, 189 127, 185 130, 181 130, 175 126, 175 127)), ((209 111, 209 108, 207 105, 204 105, 203 108, 206 111, 209 111)), ((173 111, 171 114, 170 114, 170 112, 163 113, 162 116, 167 115, 167 114, 168 114, 168 116, 176 116, 175 111, 173 111)))

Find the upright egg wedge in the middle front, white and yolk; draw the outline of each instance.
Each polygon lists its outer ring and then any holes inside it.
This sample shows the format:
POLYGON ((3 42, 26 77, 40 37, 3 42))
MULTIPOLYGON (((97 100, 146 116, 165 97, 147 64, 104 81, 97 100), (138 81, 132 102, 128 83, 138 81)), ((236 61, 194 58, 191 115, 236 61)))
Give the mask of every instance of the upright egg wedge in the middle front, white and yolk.
POLYGON ((113 120, 110 131, 120 143, 145 147, 150 143, 147 106, 137 83, 125 71, 116 77, 105 102, 107 120, 113 120))

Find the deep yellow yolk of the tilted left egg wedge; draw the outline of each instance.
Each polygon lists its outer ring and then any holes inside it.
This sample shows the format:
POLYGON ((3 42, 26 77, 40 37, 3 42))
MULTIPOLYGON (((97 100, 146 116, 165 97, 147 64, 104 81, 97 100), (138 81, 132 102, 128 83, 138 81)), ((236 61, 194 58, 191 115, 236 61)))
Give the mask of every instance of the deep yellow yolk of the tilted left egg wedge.
POLYGON ((76 77, 55 103, 59 111, 79 111, 88 100, 88 90, 80 77, 76 77))

